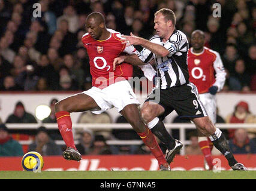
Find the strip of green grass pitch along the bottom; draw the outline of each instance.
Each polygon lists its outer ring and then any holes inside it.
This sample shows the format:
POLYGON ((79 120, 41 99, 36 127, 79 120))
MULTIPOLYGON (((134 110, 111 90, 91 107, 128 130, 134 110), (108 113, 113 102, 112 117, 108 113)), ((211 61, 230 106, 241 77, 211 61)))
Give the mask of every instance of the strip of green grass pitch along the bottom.
POLYGON ((0 179, 256 179, 256 171, 0 171, 0 179))

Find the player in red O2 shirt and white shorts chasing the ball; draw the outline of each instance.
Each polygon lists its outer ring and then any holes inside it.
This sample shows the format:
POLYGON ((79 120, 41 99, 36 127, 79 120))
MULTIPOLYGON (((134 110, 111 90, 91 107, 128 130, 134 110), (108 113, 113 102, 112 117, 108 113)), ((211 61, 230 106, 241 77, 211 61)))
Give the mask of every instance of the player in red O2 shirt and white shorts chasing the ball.
POLYGON ((132 76, 132 66, 124 63, 113 71, 113 60, 120 54, 135 54, 134 47, 122 44, 120 33, 108 30, 101 13, 89 14, 86 19, 88 33, 82 42, 89 55, 92 88, 67 97, 55 104, 56 119, 62 138, 67 145, 62 155, 65 159, 80 161, 81 155, 74 145, 71 112, 92 110, 99 114, 116 107, 132 128, 140 135, 158 160, 160 170, 170 170, 158 143, 149 128, 144 125, 138 112, 138 100, 127 81, 132 76))

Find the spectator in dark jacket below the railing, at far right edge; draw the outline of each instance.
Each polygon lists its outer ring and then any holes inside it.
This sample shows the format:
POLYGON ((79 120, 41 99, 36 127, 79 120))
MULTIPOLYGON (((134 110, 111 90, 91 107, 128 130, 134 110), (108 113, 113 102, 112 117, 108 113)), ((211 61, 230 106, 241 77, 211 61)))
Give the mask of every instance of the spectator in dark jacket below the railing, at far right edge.
POLYGON ((234 138, 229 141, 231 152, 234 154, 256 153, 256 142, 250 140, 245 129, 234 132, 234 138))

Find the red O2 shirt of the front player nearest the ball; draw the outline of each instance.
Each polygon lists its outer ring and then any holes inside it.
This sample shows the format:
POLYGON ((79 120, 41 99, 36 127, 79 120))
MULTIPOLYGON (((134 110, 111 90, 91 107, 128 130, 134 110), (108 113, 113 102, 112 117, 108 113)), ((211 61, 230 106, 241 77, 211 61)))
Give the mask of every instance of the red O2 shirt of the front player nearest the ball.
POLYGON ((82 42, 89 55, 92 86, 101 89, 132 77, 131 64, 119 64, 113 71, 113 60, 121 54, 137 53, 133 46, 126 47, 126 44, 122 44, 120 33, 114 30, 109 31, 112 31, 110 37, 104 41, 95 40, 89 33, 82 37, 82 42))

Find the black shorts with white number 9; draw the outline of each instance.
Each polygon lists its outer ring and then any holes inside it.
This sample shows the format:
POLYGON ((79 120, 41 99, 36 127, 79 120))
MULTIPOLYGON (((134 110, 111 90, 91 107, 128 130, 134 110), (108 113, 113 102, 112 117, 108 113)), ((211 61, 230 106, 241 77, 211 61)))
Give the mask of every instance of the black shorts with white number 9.
POLYGON ((171 87, 166 90, 155 89, 147 96, 146 101, 153 101, 164 107, 165 112, 158 116, 161 120, 173 110, 182 119, 207 116, 206 109, 199 99, 197 87, 192 83, 171 87))

